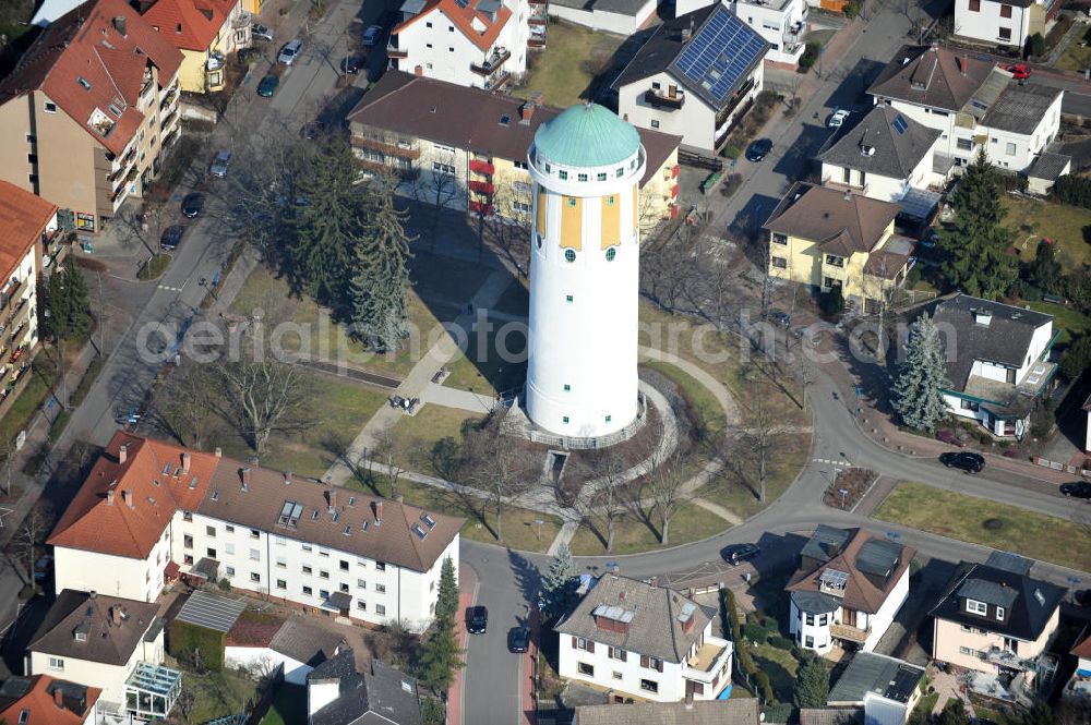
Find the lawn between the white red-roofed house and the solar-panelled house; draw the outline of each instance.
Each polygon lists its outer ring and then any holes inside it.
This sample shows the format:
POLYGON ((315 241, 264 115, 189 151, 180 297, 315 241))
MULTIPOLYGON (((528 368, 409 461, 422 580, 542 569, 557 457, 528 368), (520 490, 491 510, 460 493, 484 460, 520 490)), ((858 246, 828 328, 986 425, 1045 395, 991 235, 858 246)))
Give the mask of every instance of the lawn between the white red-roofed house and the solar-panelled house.
POLYGON ((610 58, 624 41, 620 35, 551 21, 546 50, 531 56, 527 80, 513 93, 521 98, 540 93, 544 102, 562 108, 578 104, 595 74, 610 70, 610 58))

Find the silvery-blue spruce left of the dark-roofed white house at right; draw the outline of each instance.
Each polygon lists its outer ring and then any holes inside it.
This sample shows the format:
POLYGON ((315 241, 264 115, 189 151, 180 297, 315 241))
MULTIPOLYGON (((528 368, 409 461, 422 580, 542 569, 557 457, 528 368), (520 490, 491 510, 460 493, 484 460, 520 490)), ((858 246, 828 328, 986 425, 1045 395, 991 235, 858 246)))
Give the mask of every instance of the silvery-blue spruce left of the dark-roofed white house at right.
POLYGON ((913 325, 906 360, 894 384, 894 409, 910 427, 932 433, 947 414, 940 391, 949 387, 939 329, 927 313, 913 325))

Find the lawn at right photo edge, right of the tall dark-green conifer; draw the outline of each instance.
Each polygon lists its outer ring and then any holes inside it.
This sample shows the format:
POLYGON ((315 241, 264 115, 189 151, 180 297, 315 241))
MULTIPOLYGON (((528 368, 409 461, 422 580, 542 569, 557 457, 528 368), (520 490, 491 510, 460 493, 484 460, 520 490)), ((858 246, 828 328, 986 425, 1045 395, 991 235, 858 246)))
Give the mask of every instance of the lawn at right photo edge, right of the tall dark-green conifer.
POLYGON ((1058 244, 1057 258, 1066 268, 1091 264, 1091 244, 1083 241, 1083 228, 1091 226, 1091 209, 1068 204, 1005 194, 1005 226, 1022 259, 1034 258, 1039 240, 1048 237, 1058 244))

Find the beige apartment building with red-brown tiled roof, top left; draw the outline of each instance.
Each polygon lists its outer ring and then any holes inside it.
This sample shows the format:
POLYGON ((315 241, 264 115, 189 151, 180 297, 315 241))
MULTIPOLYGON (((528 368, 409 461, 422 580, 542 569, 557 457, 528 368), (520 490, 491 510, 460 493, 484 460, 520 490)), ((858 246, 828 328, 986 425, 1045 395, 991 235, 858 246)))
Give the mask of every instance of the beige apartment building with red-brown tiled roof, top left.
POLYGON ((177 137, 181 61, 123 0, 57 19, 0 81, 0 179, 100 231, 177 137))

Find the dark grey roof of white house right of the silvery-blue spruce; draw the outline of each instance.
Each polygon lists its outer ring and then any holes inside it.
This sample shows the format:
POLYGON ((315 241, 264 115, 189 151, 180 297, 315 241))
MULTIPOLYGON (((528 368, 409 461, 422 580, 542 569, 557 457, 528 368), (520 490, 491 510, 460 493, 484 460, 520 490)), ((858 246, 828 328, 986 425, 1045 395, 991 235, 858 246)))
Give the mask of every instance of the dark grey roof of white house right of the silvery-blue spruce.
POLYGON ((1053 315, 969 294, 944 300, 936 305, 934 317, 945 342, 948 331, 956 336, 957 350, 947 360, 947 379, 956 390, 966 388, 975 360, 1021 367, 1034 330, 1053 319, 1053 315), (992 314, 987 326, 975 322, 976 312, 992 314))

